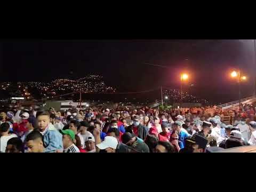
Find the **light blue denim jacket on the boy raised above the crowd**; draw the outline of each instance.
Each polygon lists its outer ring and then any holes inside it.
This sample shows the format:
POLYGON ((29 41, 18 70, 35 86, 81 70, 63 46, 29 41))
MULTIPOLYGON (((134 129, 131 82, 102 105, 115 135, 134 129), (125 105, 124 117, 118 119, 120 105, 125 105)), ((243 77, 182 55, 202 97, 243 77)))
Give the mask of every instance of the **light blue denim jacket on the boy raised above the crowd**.
POLYGON ((45 153, 54 153, 57 149, 63 150, 62 134, 50 123, 44 133, 45 153))

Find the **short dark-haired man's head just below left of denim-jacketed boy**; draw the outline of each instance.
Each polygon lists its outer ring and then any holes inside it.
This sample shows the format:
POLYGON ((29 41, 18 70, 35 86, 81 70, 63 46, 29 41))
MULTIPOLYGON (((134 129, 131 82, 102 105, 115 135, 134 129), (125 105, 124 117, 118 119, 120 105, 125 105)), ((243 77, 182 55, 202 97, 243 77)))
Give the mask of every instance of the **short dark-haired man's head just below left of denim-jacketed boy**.
POLYGON ((31 131, 26 137, 26 146, 28 153, 43 153, 44 142, 43 135, 37 131, 31 131))

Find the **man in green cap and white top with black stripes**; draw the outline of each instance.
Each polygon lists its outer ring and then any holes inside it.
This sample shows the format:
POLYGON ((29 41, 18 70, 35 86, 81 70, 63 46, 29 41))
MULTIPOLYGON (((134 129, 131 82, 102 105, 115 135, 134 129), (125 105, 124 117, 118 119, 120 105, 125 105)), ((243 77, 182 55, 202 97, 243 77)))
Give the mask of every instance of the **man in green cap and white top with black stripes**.
POLYGON ((62 142, 63 142, 63 153, 80 153, 80 150, 74 144, 75 133, 71 129, 61 130, 63 134, 62 142))

